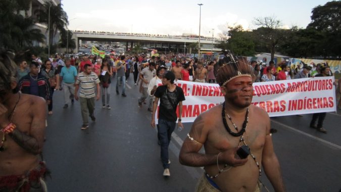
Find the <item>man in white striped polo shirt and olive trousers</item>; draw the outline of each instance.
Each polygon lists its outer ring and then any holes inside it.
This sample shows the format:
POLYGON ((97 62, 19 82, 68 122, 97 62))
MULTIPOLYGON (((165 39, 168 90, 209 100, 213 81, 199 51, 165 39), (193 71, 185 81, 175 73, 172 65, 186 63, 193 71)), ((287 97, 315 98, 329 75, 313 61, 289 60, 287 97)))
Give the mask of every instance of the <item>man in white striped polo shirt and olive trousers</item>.
POLYGON ((94 117, 94 98, 96 100, 100 100, 100 79, 98 76, 92 72, 92 66, 89 64, 84 65, 84 71, 78 74, 75 88, 75 99, 80 101, 80 109, 82 112, 83 125, 82 130, 87 129, 88 126, 88 118, 90 116, 92 121, 96 121, 94 117), (78 98, 78 89, 80 86, 79 98, 78 98), (95 86, 97 87, 97 95, 95 93, 95 86))

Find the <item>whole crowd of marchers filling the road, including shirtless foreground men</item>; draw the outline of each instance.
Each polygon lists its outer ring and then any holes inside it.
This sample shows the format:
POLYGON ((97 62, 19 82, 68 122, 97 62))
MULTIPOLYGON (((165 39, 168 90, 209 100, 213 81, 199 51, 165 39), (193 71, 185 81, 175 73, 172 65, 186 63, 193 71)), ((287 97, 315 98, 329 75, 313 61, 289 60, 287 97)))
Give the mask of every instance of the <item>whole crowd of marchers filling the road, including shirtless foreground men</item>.
MULTIPOLYGON (((32 55, 30 62, 17 59, 14 63, 9 53, 2 52, 0 60, 0 69, 4 71, 4 75, 0 76, 0 122, 3 137, 0 146, 2 151, 0 190, 9 189, 9 191, 11 188, 6 187, 29 188, 38 183, 41 191, 45 191, 46 186, 42 178, 47 174, 47 170, 44 163, 39 161, 37 154, 41 152, 44 140, 44 128, 47 126, 46 114, 30 113, 30 111, 43 111, 46 103, 47 114, 53 115, 54 91, 63 90, 63 108, 67 109, 69 105, 73 105, 74 100, 79 101, 83 120, 80 129, 87 129, 88 117, 96 121, 95 100, 102 98, 102 107, 111 109, 110 92, 111 86, 114 86, 111 85, 113 80, 116 79, 116 94, 121 93, 123 98, 129 97, 125 92, 125 85, 127 79, 131 78, 131 73, 135 89, 141 93, 136 104, 140 108, 143 107, 142 104, 147 104, 147 110, 152 114, 152 127, 156 126, 155 114, 160 101, 157 128, 163 176, 170 176, 168 146, 171 134, 176 125, 183 128, 181 114, 185 96, 182 88, 176 86, 175 82, 183 80, 217 83, 224 94, 225 102, 212 108, 208 113, 201 114, 194 121, 182 146, 180 162, 188 166, 205 167, 205 174, 200 179, 198 191, 225 191, 228 187, 236 190, 240 187, 249 190, 258 188, 260 164, 263 161, 262 165, 275 190, 284 191, 279 163, 272 150, 269 117, 264 110, 251 105, 252 83, 332 75, 326 64, 312 63, 298 65, 297 68, 291 69, 285 62, 275 67, 275 63, 270 61, 267 66, 264 66, 264 63, 247 61, 245 58, 239 58, 239 61, 235 62, 234 56, 230 53, 225 53, 222 59, 213 58, 207 61, 175 54, 160 57, 112 55, 104 58, 95 55, 63 58, 57 54, 46 61, 41 61, 38 56, 32 55), (158 81, 161 81, 162 85, 159 86, 158 81), (240 99, 241 94, 249 96, 240 99), (177 108, 179 116, 176 114, 177 108), (10 111, 10 115, 7 110, 10 111), (223 120, 220 114, 223 114, 223 120), (257 119, 264 119, 263 124, 257 124, 257 119), (246 132, 247 125, 248 132, 246 132), (259 132, 262 133, 261 136, 259 132), (257 143, 247 143, 243 137, 245 134, 249 137, 258 135, 257 138, 260 140, 257 143), (240 159, 234 156, 240 149, 237 146, 240 145, 250 147, 247 153, 252 158, 249 158, 249 161, 248 158, 240 159), (12 148, 7 150, 7 146, 14 146, 14 150, 23 148, 24 151, 13 152, 12 148), (199 153, 202 146, 205 146, 206 154, 199 153), (19 154, 13 156, 11 153, 19 154), (261 160, 259 157, 262 153, 261 160), (4 162, 17 162, 21 166, 13 163, 10 167, 4 167, 2 166, 4 162), (244 174, 250 172, 250 170, 245 171, 249 167, 252 167, 252 179, 247 179, 250 177, 244 174), (231 171, 226 174, 221 174, 230 169, 231 171), (25 175, 22 175, 25 170, 30 170, 30 174, 35 176, 27 177, 28 180, 16 181, 15 184, 10 183, 13 182, 12 177, 7 175, 25 178, 25 175)), ((338 86, 341 86, 340 81, 341 79, 338 80, 338 86)), ((341 89, 338 88, 338 91, 341 89)), ((338 103, 338 108, 341 108, 341 101, 338 103)), ((323 128, 325 116, 326 113, 314 114, 310 127, 327 133, 323 128)))

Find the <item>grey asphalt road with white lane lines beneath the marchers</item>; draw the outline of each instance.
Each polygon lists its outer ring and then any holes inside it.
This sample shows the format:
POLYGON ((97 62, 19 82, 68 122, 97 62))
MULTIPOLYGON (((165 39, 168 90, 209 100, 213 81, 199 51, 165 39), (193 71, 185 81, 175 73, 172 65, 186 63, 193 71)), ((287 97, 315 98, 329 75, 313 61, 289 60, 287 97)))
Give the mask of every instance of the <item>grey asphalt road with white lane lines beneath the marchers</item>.
MULTIPOLYGON (((113 81, 116 83, 116 80, 113 81)), ((96 102, 96 122, 81 131, 80 106, 63 109, 63 93, 55 92, 49 116, 44 158, 52 171, 50 191, 193 191, 201 168, 179 164, 182 141, 191 123, 174 131, 170 145, 171 177, 162 176, 157 132, 150 126, 147 106, 138 108, 132 77, 126 94, 112 84, 111 110, 96 102)), ((275 152, 287 191, 338 191, 341 188, 341 115, 328 113, 328 134, 309 128, 311 115, 271 118, 275 152)), ((273 191, 263 175, 262 181, 273 191)), ((265 190, 263 190, 265 191, 265 190)))

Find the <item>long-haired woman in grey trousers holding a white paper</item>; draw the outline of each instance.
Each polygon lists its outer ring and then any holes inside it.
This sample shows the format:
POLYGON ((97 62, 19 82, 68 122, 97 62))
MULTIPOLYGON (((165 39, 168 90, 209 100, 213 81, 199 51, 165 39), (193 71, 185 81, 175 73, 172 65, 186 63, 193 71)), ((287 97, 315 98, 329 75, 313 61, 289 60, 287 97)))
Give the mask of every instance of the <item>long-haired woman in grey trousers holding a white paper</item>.
POLYGON ((112 68, 110 67, 108 60, 103 59, 101 66, 101 92, 102 92, 102 108, 111 109, 110 102, 110 90, 111 90, 111 76, 113 75, 112 68))

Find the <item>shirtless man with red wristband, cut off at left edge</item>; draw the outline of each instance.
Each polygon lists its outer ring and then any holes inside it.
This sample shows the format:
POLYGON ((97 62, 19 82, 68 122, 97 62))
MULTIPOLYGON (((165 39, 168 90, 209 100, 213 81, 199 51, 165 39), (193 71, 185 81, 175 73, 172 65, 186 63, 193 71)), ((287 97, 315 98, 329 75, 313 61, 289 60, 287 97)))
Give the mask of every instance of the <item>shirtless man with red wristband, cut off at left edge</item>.
POLYGON ((45 132, 45 101, 18 92, 16 64, 0 53, 0 191, 46 191, 39 160, 45 132), (39 112, 39 113, 37 113, 39 112), (32 188, 31 188, 32 187, 32 188))

